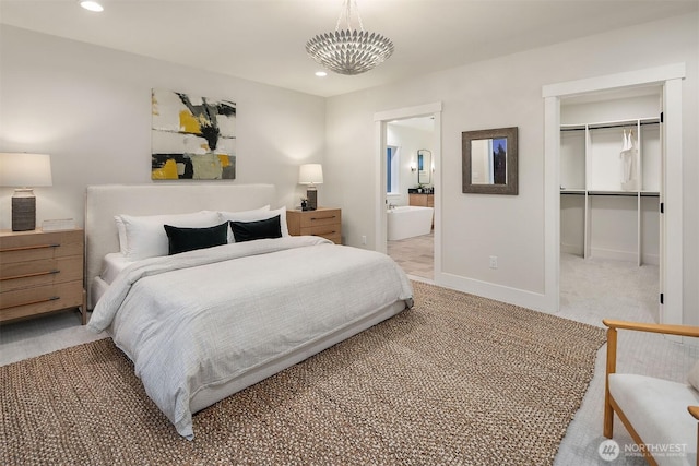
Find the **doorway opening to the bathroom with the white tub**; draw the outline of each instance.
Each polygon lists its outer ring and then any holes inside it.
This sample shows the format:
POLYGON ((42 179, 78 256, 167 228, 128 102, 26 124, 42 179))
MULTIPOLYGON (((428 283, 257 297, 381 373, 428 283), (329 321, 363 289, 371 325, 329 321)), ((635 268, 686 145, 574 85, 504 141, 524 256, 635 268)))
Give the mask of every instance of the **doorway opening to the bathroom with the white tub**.
POLYGON ((439 154, 441 103, 377 113, 377 250, 415 279, 440 271, 439 154))

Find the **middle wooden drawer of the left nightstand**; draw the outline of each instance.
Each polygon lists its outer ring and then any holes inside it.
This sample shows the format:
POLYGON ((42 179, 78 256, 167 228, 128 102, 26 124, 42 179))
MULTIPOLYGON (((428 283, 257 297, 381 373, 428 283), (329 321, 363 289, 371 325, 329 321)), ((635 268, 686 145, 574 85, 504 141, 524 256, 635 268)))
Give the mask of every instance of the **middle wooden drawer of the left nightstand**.
POLYGON ((82 280, 82 278, 83 258, 80 255, 3 263, 0 268, 0 292, 31 286, 82 280))

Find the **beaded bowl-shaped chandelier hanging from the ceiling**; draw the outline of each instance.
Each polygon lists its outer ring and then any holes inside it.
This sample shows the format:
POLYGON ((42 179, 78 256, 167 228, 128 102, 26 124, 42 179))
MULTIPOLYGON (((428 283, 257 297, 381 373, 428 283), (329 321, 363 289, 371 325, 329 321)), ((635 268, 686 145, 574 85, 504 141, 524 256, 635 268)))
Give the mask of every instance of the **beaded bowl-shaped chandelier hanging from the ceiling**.
POLYGON ((388 37, 364 31, 356 0, 344 0, 343 11, 332 33, 317 35, 306 43, 306 51, 318 63, 340 74, 360 74, 383 63, 393 53, 388 37), (352 7, 359 28, 352 27, 352 7), (340 29, 342 20, 346 29, 340 29))

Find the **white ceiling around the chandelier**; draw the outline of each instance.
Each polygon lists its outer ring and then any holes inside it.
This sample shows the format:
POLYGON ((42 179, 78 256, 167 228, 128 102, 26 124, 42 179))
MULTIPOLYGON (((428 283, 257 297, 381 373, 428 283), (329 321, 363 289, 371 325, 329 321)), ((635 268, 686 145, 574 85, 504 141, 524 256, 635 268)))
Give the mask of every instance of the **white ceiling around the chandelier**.
MULTIPOLYGON (((0 0, 0 23, 319 96, 387 84, 699 9, 699 0, 357 0, 395 52, 356 76, 313 75, 305 51, 342 0, 0 0)), ((591 50, 591 53, 594 53, 591 50)))

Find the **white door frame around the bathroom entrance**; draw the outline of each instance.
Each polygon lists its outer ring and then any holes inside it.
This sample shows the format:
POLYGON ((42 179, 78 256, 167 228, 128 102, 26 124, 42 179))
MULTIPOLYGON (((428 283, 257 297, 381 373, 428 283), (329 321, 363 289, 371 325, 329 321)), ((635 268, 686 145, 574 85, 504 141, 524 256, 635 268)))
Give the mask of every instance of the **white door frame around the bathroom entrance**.
POLYGON ((435 187, 435 272, 434 282, 438 282, 441 274, 441 101, 419 105, 415 107, 403 107, 394 110, 379 111, 374 113, 376 123, 376 179, 377 189, 375 198, 375 250, 387 253, 387 213, 386 213, 386 150, 387 150, 387 123, 393 120, 406 118, 433 117, 435 119, 435 141, 433 151, 433 164, 435 165, 434 187, 435 187))

